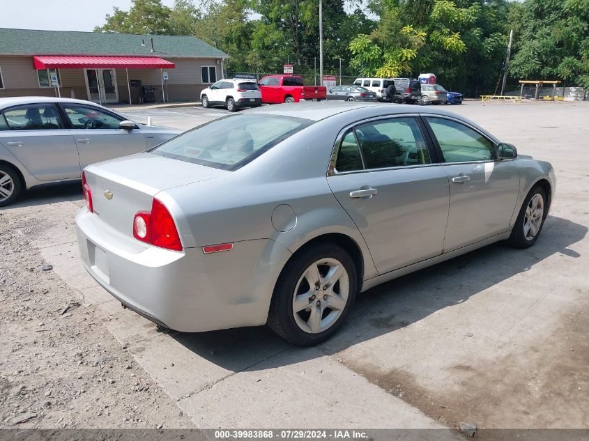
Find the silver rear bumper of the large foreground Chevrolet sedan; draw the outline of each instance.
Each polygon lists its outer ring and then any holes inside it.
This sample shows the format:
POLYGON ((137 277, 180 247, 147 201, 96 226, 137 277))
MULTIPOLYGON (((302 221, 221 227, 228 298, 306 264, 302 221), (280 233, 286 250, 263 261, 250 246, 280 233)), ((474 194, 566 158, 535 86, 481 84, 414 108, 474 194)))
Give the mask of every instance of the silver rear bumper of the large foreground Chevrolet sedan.
POLYGON ((146 246, 85 208, 76 233, 84 268, 98 284, 141 316, 183 332, 266 323, 277 273, 291 255, 272 240, 235 242, 215 254, 146 246))

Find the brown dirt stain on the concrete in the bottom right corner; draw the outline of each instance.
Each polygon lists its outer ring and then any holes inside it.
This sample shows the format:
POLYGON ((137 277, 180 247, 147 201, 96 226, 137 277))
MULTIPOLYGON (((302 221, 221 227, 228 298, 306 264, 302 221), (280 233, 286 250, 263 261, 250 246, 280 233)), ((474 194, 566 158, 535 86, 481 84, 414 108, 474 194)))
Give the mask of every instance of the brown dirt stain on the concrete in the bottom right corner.
MULTIPOLYGON (((560 318, 548 339, 524 350, 456 364, 451 384, 430 390, 401 369, 346 362, 351 369, 452 428, 589 428, 589 302, 560 318), (566 415, 566 423, 563 422, 566 415)), ((485 438, 485 433, 482 433, 485 438)), ((502 439, 487 432, 487 438, 502 439)), ((513 433, 505 433, 506 439, 513 433)))

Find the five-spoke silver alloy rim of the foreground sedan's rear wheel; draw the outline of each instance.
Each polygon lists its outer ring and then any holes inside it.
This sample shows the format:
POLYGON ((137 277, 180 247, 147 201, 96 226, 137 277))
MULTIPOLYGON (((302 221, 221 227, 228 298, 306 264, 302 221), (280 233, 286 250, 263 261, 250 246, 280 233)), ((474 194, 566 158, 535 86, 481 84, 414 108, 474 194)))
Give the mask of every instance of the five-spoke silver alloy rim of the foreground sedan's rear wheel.
POLYGON ((335 258, 315 261, 303 272, 293 293, 293 315, 310 334, 328 330, 342 315, 350 292, 348 272, 335 258))

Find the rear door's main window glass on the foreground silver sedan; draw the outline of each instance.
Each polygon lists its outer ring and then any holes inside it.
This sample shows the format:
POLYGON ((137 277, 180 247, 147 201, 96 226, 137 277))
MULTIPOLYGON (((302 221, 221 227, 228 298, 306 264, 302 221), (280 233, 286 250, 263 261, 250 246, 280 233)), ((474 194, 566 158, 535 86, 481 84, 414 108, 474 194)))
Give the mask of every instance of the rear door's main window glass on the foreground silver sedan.
POLYGON ((390 118, 355 127, 367 169, 430 164, 415 118, 390 118))

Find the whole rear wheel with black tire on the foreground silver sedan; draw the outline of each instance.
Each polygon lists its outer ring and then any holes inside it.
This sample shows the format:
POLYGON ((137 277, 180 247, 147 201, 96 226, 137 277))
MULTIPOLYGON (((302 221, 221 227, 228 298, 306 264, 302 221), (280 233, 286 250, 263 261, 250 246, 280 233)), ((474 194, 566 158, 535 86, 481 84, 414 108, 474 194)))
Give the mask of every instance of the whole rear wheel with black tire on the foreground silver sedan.
POLYGON ((344 323, 358 291, 349 254, 325 242, 294 256, 276 282, 268 326, 297 346, 326 341, 344 323))

